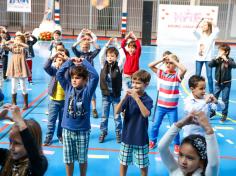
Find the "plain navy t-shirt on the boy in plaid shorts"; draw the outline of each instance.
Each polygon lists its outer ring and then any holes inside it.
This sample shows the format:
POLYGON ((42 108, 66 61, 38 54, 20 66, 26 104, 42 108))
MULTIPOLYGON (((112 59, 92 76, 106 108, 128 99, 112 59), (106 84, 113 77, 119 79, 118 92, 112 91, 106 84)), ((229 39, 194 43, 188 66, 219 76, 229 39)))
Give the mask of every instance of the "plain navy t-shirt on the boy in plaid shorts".
MULTIPOLYGON (((151 112, 153 107, 152 99, 146 93, 144 93, 140 99, 151 112)), ((125 117, 122 129, 122 142, 138 146, 148 144, 148 118, 143 117, 138 104, 131 96, 128 96, 122 104, 122 111, 124 110, 125 117)))

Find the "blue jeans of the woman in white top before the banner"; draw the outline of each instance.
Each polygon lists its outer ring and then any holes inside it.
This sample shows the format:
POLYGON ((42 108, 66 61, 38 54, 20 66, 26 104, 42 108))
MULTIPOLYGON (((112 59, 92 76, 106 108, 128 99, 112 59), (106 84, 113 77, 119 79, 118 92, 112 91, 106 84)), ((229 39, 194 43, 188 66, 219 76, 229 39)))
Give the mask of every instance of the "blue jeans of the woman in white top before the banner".
POLYGON ((202 72, 202 66, 205 63, 206 74, 208 80, 209 93, 213 93, 213 78, 212 78, 212 68, 208 66, 209 61, 196 61, 196 75, 200 76, 202 72))

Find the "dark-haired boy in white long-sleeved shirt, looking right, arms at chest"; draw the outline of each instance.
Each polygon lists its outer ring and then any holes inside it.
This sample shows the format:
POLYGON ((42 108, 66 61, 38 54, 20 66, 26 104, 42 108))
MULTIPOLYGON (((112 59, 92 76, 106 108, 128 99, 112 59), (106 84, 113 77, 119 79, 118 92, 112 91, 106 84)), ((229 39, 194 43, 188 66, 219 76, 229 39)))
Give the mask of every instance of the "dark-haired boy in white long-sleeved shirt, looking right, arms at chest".
MULTIPOLYGON (((206 82, 202 76, 193 75, 188 80, 188 86, 191 89, 191 94, 184 100, 184 114, 189 114, 193 111, 203 111, 206 117, 210 117, 210 111, 224 109, 224 103, 217 100, 214 95, 206 95, 206 82)), ((183 137, 190 134, 205 135, 204 130, 195 124, 186 125, 183 128, 183 137)))

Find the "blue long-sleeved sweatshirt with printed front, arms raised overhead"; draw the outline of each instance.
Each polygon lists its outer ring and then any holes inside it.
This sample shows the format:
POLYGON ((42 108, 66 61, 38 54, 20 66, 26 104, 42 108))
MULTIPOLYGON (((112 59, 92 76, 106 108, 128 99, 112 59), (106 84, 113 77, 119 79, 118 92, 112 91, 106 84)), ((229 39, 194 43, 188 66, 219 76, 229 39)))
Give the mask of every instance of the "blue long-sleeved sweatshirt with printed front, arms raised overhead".
POLYGON ((87 131, 91 128, 90 103, 98 85, 99 76, 93 66, 84 59, 82 66, 87 68, 90 79, 86 86, 74 88, 71 85, 71 79, 65 77, 65 72, 73 65, 71 60, 66 61, 56 75, 65 91, 65 107, 61 126, 71 131, 87 131))

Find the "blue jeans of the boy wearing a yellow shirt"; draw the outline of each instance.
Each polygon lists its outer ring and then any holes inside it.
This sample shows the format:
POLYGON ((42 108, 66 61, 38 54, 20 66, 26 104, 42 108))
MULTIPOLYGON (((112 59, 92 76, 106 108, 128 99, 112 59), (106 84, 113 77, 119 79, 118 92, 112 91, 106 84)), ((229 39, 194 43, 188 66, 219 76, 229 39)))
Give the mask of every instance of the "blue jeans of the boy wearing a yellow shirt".
POLYGON ((62 101, 56 101, 56 100, 50 100, 49 102, 49 109, 48 109, 48 131, 46 134, 47 138, 52 139, 53 134, 56 128, 56 121, 58 117, 58 125, 57 125, 57 137, 62 137, 62 127, 61 127, 61 121, 63 116, 63 110, 64 110, 64 100, 62 101))

